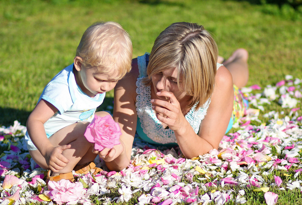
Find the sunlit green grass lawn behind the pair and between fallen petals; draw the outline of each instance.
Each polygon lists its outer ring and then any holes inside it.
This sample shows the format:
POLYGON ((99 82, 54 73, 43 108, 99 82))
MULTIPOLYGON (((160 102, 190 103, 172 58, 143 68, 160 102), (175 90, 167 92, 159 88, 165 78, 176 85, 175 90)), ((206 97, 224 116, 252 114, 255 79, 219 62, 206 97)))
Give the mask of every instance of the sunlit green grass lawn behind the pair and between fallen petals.
MULTIPOLYGON (((227 58, 239 47, 249 51, 247 86, 275 85, 287 74, 302 79, 302 7, 294 10, 253 0, 0 0, 0 126, 12 125, 14 120, 25 125, 44 86, 72 63, 83 32, 100 20, 116 21, 127 30, 133 58, 150 52, 155 38, 171 23, 189 21, 213 34, 220 56, 227 58)), ((101 110, 112 106, 113 91, 106 96, 101 110)), ((285 116, 291 111, 276 102, 264 109, 261 114, 276 110, 285 116)), ((285 171, 278 173, 284 181, 297 180, 294 169, 289 172, 291 177, 283 175, 285 171)), ((273 178, 271 174, 265 180, 273 178)), ((245 192, 246 204, 265 204, 263 193, 245 192)), ((114 194, 118 196, 117 189, 114 194)), ((139 194, 120 204, 137 203, 139 194)), ((278 204, 302 204, 300 191, 278 194, 278 204)))

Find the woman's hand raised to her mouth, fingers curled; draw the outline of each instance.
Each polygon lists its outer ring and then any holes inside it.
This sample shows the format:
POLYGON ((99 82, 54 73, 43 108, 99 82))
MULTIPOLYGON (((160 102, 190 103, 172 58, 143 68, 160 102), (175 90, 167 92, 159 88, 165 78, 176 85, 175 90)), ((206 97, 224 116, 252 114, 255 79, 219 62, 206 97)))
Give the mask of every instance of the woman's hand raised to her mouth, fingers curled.
POLYGON ((174 94, 168 91, 160 91, 157 96, 163 96, 168 100, 152 99, 152 109, 156 111, 156 117, 162 123, 165 123, 175 132, 179 132, 188 122, 185 119, 180 104, 174 94))

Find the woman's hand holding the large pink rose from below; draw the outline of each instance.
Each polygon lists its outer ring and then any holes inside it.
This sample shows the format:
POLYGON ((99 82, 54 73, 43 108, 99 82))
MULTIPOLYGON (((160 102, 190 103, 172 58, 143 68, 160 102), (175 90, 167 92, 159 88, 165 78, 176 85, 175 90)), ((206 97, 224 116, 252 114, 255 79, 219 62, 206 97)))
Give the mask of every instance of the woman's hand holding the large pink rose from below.
MULTIPOLYGON (((93 144, 94 147, 94 144, 93 144)), ((92 152, 98 154, 105 162, 111 162, 115 158, 117 158, 125 149, 125 145, 122 140, 120 140, 120 144, 114 145, 111 149, 105 147, 101 151, 98 151, 92 148, 92 152)))

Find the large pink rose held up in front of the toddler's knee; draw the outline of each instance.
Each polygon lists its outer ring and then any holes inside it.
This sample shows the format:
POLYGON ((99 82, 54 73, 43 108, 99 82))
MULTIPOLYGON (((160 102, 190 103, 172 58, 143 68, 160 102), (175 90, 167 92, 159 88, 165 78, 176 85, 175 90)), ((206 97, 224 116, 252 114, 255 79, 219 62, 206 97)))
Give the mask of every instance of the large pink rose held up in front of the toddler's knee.
POLYGON ((121 134, 120 126, 110 115, 105 117, 95 115, 84 135, 88 142, 95 143, 96 150, 101 151, 105 147, 111 149, 114 145, 120 144, 121 134))

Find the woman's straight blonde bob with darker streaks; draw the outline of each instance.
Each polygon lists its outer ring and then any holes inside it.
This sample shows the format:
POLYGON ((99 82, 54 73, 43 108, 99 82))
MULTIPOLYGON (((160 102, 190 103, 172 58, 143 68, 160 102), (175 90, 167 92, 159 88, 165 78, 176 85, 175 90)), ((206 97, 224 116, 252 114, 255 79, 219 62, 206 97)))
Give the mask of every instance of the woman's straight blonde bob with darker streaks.
POLYGON ((213 93, 217 57, 217 44, 203 26, 187 22, 171 24, 154 42, 145 85, 152 84, 152 75, 177 68, 178 88, 191 96, 188 107, 197 103, 197 110, 213 93))

